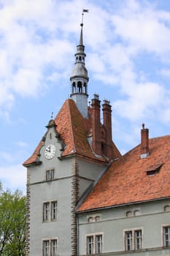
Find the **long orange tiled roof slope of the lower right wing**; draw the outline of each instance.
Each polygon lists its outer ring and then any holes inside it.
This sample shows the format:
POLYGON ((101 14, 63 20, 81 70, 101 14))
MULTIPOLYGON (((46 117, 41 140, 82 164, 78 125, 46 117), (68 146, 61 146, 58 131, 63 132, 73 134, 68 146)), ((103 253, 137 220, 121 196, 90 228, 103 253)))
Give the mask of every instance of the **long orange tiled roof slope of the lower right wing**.
POLYGON ((139 145, 112 162, 78 211, 163 197, 170 197, 170 135, 150 139, 150 155, 145 159, 140 158, 139 145))

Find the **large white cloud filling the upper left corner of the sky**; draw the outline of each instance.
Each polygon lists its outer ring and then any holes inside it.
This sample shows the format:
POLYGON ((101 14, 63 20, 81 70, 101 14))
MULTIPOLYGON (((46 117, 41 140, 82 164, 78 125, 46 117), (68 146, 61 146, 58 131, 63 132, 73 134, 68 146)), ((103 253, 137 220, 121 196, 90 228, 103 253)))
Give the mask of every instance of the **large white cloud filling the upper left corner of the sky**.
POLYGON ((73 48, 66 39, 53 38, 58 28, 56 7, 54 1, 42 4, 39 0, 23 0, 8 1, 0 10, 1 113, 12 108, 15 93, 23 97, 42 93, 53 69, 66 72, 66 60, 73 48))

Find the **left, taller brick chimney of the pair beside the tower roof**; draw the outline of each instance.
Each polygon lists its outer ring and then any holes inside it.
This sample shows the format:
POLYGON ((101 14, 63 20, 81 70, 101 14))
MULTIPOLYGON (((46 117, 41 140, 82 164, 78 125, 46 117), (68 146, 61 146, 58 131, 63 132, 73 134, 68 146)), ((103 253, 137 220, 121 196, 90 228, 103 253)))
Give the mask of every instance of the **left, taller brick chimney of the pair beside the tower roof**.
POLYGON ((93 96, 91 100, 92 148, 96 154, 101 155, 101 101, 99 100, 98 94, 94 94, 93 96))

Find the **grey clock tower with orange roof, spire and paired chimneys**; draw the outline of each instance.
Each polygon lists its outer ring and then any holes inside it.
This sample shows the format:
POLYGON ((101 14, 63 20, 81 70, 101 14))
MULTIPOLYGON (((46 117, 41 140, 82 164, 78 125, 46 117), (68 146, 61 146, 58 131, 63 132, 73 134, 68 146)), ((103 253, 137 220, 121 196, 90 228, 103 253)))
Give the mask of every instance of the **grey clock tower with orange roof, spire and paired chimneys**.
POLYGON ((111 106, 103 105, 100 121, 98 95, 88 107, 88 71, 85 47, 77 45, 66 99, 27 168, 26 256, 77 256, 77 206, 86 190, 120 152, 112 142, 111 106))

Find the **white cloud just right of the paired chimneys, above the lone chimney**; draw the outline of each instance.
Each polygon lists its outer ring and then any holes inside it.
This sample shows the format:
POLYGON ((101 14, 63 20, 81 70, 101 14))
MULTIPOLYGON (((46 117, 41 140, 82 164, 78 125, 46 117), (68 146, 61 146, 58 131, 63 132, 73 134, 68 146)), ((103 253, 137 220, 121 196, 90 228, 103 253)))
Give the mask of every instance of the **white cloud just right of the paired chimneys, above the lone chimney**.
POLYGON ((156 83, 134 84, 126 93, 128 97, 117 100, 115 107, 120 116, 131 121, 153 118, 164 97, 163 89, 156 83))

